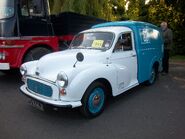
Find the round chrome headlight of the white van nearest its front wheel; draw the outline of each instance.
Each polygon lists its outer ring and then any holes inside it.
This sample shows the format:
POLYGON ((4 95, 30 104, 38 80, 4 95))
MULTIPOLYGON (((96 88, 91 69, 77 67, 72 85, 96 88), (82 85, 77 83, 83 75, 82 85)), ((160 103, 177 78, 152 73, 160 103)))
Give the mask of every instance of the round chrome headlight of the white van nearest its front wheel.
POLYGON ((60 72, 57 75, 57 83, 60 87, 66 87, 68 85, 68 77, 64 72, 60 72))

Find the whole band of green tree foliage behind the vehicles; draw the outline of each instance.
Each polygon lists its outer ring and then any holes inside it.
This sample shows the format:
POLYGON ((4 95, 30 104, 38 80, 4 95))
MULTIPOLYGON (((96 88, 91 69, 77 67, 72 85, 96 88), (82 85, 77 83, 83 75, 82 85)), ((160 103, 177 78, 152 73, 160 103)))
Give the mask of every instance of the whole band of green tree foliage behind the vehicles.
POLYGON ((140 20, 160 25, 167 21, 174 33, 175 53, 185 54, 184 0, 49 0, 51 13, 72 11, 108 21, 140 20), (128 4, 128 9, 125 5, 128 4))

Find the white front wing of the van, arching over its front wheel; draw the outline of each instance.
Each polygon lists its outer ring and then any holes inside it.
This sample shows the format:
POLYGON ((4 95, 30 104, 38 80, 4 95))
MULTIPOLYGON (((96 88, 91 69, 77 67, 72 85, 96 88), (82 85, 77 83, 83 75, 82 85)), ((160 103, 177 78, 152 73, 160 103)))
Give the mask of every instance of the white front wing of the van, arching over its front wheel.
POLYGON ((106 66, 105 64, 99 64, 93 67, 85 68, 84 70, 76 70, 73 77, 69 77, 70 84, 67 87, 68 95, 64 98, 65 100, 81 100, 87 92, 87 89, 94 82, 101 82, 105 85, 110 95, 114 96, 117 91, 117 71, 114 66, 106 66), (103 69, 103 70, 102 70, 103 69), (80 85, 78 85, 80 84, 80 85), (73 93, 74 92, 74 93, 73 93), (75 93, 78 92, 78 93, 75 93))

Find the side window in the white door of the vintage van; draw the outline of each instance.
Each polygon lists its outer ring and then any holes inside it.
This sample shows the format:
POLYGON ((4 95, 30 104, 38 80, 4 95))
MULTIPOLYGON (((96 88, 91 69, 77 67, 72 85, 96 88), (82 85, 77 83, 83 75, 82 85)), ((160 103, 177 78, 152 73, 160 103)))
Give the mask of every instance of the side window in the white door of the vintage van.
POLYGON ((124 33, 122 34, 114 48, 114 52, 120 52, 120 51, 129 51, 132 50, 132 37, 131 33, 124 33))

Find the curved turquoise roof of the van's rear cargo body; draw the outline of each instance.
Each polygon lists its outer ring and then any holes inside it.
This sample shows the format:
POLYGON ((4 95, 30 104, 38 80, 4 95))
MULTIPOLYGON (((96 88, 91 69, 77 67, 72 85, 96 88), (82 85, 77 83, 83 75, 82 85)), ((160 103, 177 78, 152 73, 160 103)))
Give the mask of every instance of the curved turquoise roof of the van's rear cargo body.
POLYGON ((102 24, 97 24, 92 26, 92 28, 100 28, 100 27, 110 27, 110 26, 126 26, 133 29, 136 26, 150 26, 152 28, 158 28, 157 26, 141 21, 115 21, 115 22, 106 22, 102 24))

